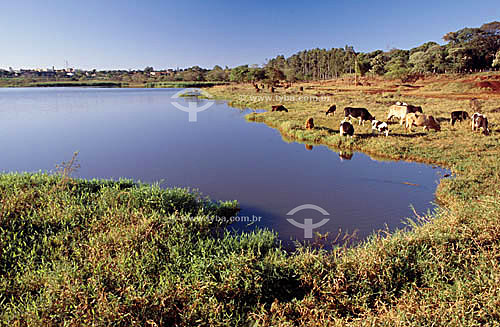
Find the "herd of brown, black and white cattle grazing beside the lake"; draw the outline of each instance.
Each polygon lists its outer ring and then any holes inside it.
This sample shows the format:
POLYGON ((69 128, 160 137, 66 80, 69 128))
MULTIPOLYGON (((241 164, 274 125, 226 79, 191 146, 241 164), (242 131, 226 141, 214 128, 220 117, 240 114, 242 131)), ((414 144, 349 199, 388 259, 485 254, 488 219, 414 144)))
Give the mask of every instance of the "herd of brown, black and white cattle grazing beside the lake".
MULTIPOLYGON (((335 115, 336 110, 337 106, 332 105, 326 111, 326 115, 335 115)), ((283 105, 277 105, 272 106, 272 111, 288 112, 288 109, 286 109, 283 105)), ((424 130, 441 130, 439 122, 433 116, 424 114, 422 107, 413 106, 404 102, 396 102, 394 105, 389 107, 387 122, 376 120, 366 108, 345 107, 344 119, 340 122, 340 135, 352 137, 354 135, 354 126, 351 124, 351 119, 358 119, 359 125, 364 125, 365 121, 370 121, 372 133, 378 132, 388 136, 388 122, 392 121, 393 118, 399 119, 400 125, 403 125, 404 123, 404 127, 407 131, 411 131, 413 126, 423 127, 424 130)), ((453 126, 456 122, 467 121, 468 119, 469 114, 466 111, 453 111, 451 112, 450 123, 453 126)), ((482 130, 484 135, 489 135, 490 130, 488 128, 488 118, 486 118, 485 115, 476 112, 470 117, 470 119, 473 131, 482 130)), ((306 129, 313 128, 314 121, 311 117, 306 121, 306 129)))

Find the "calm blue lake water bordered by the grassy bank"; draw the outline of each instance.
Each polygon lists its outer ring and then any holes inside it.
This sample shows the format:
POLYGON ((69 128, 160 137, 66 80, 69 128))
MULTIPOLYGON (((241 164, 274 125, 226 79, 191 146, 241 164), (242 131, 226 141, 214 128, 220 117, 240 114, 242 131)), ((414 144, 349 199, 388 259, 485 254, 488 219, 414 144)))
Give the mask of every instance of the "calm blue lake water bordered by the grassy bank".
POLYGON ((160 181, 198 188, 215 200, 235 199, 241 219, 258 220, 235 228, 267 227, 285 241, 307 236, 287 219, 328 219, 314 232, 357 230, 363 238, 404 226, 403 219, 414 217, 411 206, 419 214, 433 208, 442 169, 362 153, 341 160, 326 147, 286 143, 278 131, 247 122, 251 111, 224 102, 189 122, 188 113, 172 105, 189 105, 172 99, 177 91, 0 89, 0 171, 51 171, 79 151, 78 177, 160 181), (300 205, 324 211, 287 215, 300 205))

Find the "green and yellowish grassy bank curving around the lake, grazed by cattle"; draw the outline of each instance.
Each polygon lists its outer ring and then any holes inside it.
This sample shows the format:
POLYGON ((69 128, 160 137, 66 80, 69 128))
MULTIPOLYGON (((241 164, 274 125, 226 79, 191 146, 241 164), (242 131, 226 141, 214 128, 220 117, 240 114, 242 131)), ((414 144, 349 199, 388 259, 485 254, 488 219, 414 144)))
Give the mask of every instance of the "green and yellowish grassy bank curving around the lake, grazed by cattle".
MULTIPOLYGON (((386 83, 385 81, 383 83, 386 83)), ((500 105, 479 94, 492 134, 451 127, 451 110, 468 94, 430 97, 413 88, 303 84, 277 94, 251 85, 209 93, 235 106, 288 113, 250 114, 287 139, 365 151, 452 170, 432 216, 411 231, 373 235, 355 248, 300 248, 286 254, 266 231, 231 236, 213 216, 234 202, 213 203, 183 189, 67 176, 0 176, 0 321, 8 325, 119 326, 493 326, 500 320, 500 105), (374 92, 376 89, 384 89, 374 92), (252 96, 308 96, 306 99, 252 96), (330 97, 311 101, 311 97, 330 97), (383 117, 389 104, 422 105, 441 132, 338 136, 332 103, 366 106, 383 117), (314 130, 305 130, 313 117, 314 130), (197 218, 195 218, 197 217, 197 218)), ((433 92, 434 89, 433 89, 433 92)), ((469 110, 470 111, 470 110, 469 110)), ((384 117, 385 118, 385 117, 384 117)), ((402 217, 403 219, 403 217, 402 217)))

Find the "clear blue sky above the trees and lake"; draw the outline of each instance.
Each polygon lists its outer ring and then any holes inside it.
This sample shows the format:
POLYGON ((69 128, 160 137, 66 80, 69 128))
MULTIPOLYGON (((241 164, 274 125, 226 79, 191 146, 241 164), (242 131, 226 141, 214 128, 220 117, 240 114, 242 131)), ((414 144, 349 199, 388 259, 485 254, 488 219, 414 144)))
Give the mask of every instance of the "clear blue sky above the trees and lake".
POLYGON ((260 65, 316 47, 442 43, 495 20, 498 0, 2 0, 0 68, 260 65))

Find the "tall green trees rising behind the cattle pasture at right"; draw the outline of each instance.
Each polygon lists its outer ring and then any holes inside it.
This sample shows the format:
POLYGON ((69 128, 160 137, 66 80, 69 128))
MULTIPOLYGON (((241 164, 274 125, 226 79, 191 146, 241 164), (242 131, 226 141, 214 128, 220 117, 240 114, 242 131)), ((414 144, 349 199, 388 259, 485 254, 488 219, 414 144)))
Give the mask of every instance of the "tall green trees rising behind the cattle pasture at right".
POLYGON ((266 68, 287 80, 331 79, 346 73, 403 77, 424 73, 469 73, 500 66, 500 22, 463 28, 443 36, 447 43, 427 42, 411 50, 356 53, 353 47, 300 51, 277 56, 266 68))

